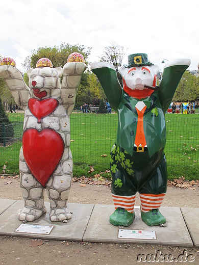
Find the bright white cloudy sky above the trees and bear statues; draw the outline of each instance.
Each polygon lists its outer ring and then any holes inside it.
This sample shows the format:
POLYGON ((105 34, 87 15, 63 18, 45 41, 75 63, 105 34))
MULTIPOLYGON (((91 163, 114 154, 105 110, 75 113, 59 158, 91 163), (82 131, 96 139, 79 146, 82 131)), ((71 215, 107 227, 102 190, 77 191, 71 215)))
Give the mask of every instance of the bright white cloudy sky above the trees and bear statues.
POLYGON ((62 42, 92 47, 90 62, 114 42, 128 54, 145 52, 160 70, 163 59, 175 58, 190 58, 188 69, 197 69, 198 0, 7 0, 0 7, 0 54, 21 70, 31 50, 62 42))

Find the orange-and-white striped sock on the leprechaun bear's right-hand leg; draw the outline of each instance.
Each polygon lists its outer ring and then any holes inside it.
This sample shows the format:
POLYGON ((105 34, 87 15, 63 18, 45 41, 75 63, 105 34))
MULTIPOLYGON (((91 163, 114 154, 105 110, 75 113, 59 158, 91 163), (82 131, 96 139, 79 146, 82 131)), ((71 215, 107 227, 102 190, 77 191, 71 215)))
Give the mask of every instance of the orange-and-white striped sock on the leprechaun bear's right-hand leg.
POLYGON ((141 211, 147 213, 149 210, 159 209, 165 194, 140 194, 141 211))

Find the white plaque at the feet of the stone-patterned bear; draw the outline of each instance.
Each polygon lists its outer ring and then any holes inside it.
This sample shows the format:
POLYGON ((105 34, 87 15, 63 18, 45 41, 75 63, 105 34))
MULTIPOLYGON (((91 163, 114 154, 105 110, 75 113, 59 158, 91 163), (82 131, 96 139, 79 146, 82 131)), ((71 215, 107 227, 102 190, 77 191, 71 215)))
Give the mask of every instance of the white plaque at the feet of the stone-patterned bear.
POLYGON ((49 234, 53 229, 52 225, 27 225, 21 224, 15 232, 31 234, 49 234))

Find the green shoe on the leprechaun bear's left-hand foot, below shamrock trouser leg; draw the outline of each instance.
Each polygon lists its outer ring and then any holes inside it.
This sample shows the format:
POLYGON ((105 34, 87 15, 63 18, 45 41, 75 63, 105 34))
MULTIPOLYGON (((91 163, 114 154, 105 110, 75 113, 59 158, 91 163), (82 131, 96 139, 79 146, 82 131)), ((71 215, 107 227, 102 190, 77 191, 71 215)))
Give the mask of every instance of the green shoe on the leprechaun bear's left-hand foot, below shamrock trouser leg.
POLYGON ((125 208, 118 207, 110 216, 109 222, 116 226, 129 226, 133 223, 135 213, 129 213, 125 208))

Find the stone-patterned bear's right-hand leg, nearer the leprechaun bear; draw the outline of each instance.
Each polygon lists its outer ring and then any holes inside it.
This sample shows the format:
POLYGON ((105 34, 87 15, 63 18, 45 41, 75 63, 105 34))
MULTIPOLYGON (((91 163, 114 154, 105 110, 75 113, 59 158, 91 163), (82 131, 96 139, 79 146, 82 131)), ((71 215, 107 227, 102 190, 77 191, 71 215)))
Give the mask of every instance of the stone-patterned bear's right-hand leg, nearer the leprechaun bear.
POLYGON ((67 208, 67 200, 70 192, 72 176, 53 175, 46 183, 46 191, 51 206, 50 219, 52 222, 60 222, 71 218, 67 208))

